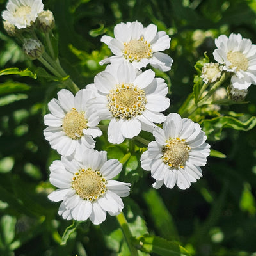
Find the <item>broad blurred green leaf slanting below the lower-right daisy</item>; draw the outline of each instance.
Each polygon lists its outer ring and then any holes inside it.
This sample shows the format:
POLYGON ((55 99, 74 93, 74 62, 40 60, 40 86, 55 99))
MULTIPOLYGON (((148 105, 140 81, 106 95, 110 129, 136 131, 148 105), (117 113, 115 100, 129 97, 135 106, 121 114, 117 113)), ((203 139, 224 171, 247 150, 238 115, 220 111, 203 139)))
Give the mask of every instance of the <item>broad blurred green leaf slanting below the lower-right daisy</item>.
POLYGON ((148 205, 148 214, 154 221, 159 234, 166 239, 178 239, 177 229, 173 218, 164 205, 163 199, 156 189, 150 189, 143 195, 148 205))

